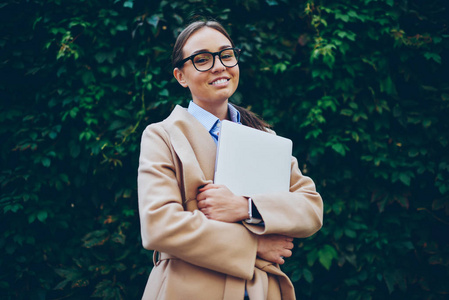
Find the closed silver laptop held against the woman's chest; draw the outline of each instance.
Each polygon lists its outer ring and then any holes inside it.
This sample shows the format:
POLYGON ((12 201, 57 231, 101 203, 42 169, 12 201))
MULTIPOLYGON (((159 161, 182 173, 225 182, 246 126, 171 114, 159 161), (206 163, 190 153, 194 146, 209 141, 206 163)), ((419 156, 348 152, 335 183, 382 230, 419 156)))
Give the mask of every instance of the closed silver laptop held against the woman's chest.
POLYGON ((248 197, 288 192, 292 146, 284 137, 223 120, 214 183, 248 197))

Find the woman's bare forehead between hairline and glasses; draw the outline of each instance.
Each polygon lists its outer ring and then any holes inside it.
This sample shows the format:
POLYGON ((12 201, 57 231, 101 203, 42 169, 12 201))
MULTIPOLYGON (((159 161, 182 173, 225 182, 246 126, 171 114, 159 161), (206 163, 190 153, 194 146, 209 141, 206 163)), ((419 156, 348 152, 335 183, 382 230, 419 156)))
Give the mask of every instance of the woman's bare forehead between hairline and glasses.
POLYGON ((231 41, 220 31, 203 27, 192 34, 183 47, 183 52, 186 55, 198 50, 218 51, 223 46, 231 46, 231 41))

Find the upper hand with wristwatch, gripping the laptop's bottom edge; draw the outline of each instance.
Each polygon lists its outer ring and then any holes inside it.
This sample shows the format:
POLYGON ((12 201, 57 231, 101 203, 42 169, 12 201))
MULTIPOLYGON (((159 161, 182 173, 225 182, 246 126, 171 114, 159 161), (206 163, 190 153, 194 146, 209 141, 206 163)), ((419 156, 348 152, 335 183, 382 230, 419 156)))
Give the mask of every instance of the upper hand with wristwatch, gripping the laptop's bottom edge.
POLYGON ((198 191, 198 208, 208 219, 234 223, 248 218, 248 199, 234 195, 226 186, 211 183, 198 191))

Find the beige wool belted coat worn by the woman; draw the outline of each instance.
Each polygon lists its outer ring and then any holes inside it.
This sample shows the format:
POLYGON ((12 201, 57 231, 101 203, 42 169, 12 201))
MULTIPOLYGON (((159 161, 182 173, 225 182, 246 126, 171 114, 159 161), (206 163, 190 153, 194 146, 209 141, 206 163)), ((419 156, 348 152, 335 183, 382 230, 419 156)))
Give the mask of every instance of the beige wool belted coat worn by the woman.
MULTIPOLYGON (((142 243, 155 251, 143 299, 295 299, 279 266, 256 258, 257 235, 307 237, 321 228, 323 203, 292 158, 290 192, 250 195, 265 226, 207 219, 198 188, 211 183, 216 145, 185 108, 142 135, 138 170, 142 243)), ((244 172, 244 170, 242 170, 244 172)))

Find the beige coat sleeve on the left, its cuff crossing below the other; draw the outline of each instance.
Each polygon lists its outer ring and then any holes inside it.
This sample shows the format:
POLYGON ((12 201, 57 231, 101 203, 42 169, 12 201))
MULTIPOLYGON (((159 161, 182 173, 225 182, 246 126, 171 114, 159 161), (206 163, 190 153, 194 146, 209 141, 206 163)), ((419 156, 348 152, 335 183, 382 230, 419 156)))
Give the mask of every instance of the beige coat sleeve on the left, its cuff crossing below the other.
POLYGON ((141 141, 138 201, 142 244, 188 263, 251 279, 257 238, 244 226, 207 219, 183 208, 176 155, 162 126, 148 126, 141 141))

